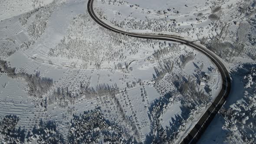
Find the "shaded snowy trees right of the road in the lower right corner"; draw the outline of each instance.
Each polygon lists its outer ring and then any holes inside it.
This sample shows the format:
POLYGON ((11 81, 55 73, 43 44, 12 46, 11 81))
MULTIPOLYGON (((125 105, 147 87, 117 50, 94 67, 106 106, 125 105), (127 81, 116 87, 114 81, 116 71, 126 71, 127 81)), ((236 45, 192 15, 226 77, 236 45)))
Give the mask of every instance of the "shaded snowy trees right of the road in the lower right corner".
POLYGON ((244 65, 237 72, 243 72, 245 75, 243 79, 245 90, 241 96, 243 101, 236 101, 234 107, 221 108, 221 115, 225 118, 222 128, 228 130, 227 143, 254 144, 256 143, 256 67, 244 65))

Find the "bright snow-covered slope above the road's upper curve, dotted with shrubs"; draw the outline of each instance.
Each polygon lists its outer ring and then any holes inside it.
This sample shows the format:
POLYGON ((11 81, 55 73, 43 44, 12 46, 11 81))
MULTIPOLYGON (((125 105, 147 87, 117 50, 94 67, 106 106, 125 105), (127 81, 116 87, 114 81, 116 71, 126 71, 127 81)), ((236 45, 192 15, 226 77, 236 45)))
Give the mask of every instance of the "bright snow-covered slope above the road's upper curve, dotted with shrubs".
POLYGON ((206 17, 211 13, 210 6, 212 1, 158 0, 158 4, 156 4, 154 0, 116 0, 111 2, 108 0, 96 0, 95 8, 106 21, 115 25, 123 26, 128 23, 127 28, 135 29, 136 24, 130 26, 129 21, 131 23, 136 21, 137 29, 144 28, 159 31, 164 28, 161 27, 164 25, 170 28, 174 28, 172 26, 192 28, 194 24, 196 27, 207 26, 210 24, 210 20, 206 17), (152 26, 147 27, 147 23, 152 26))

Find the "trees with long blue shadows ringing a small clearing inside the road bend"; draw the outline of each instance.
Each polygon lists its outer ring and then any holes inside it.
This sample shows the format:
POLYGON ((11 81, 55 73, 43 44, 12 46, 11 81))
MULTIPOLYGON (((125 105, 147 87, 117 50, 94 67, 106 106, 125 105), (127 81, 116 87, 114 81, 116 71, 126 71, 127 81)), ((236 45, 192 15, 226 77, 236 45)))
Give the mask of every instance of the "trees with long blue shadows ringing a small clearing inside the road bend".
POLYGON ((147 135, 148 143, 175 143, 181 131, 185 130, 185 125, 195 118, 201 108, 210 102, 210 97, 203 93, 203 90, 197 89, 199 85, 192 77, 177 76, 173 83, 179 92, 167 92, 163 97, 156 99, 149 107, 151 132, 147 135), (182 95, 181 115, 175 115, 172 123, 166 128, 160 124, 161 115, 168 109, 168 106, 174 102, 174 95, 182 95))

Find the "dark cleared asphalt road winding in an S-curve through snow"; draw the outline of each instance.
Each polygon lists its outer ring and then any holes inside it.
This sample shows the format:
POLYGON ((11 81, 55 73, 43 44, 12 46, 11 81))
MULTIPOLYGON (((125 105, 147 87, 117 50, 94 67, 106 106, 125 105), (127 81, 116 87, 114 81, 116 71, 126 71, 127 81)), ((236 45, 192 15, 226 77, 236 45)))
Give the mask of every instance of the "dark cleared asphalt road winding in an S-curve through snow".
POLYGON ((201 53, 203 53, 217 66, 222 78, 222 87, 221 87, 220 93, 214 99, 213 103, 210 105, 207 111, 201 116, 197 124, 195 124, 194 128, 192 128, 189 134, 187 134, 187 136, 181 141, 181 144, 196 143, 199 140, 199 138, 202 136, 203 132, 206 130, 210 122, 213 120, 214 116, 220 110, 221 106, 226 101, 226 98, 230 93, 231 79, 230 79, 230 74, 227 71, 225 65, 210 50, 202 46, 199 46, 193 42, 190 42, 186 39, 183 39, 182 37, 167 35, 167 34, 132 33, 132 32, 126 32, 124 30, 116 29, 115 27, 109 26, 108 24, 104 23, 100 18, 98 18, 98 16, 95 14, 93 9, 93 1, 94 0, 88 1, 87 10, 90 16, 92 17, 92 19, 95 20, 95 22, 101 25, 102 27, 109 29, 115 33, 121 33, 123 35, 128 35, 132 37, 137 37, 142 39, 158 39, 158 40, 172 41, 172 42, 177 42, 177 43, 190 46, 191 48, 196 49, 201 53))

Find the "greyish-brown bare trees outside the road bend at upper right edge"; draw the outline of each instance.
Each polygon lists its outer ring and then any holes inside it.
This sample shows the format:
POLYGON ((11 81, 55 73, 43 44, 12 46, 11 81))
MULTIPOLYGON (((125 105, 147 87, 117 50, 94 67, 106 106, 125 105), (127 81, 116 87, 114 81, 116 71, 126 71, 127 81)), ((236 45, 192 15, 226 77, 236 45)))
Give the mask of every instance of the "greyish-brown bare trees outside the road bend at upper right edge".
POLYGON ((236 32, 237 39, 235 41, 225 41, 226 36, 223 36, 223 33, 229 33, 227 29, 229 25, 220 23, 218 24, 219 26, 215 26, 221 28, 220 33, 217 33, 216 36, 209 36, 210 40, 208 42, 207 38, 203 37, 200 39, 200 43, 205 44, 208 49, 228 62, 230 62, 231 58, 236 56, 244 57, 244 54, 247 54, 254 59, 254 55, 250 52, 245 52, 244 50, 245 46, 248 45, 247 42, 254 43, 253 35, 251 33, 251 29, 253 29, 251 22, 252 21, 249 23, 244 21, 239 24, 239 28, 236 32))

